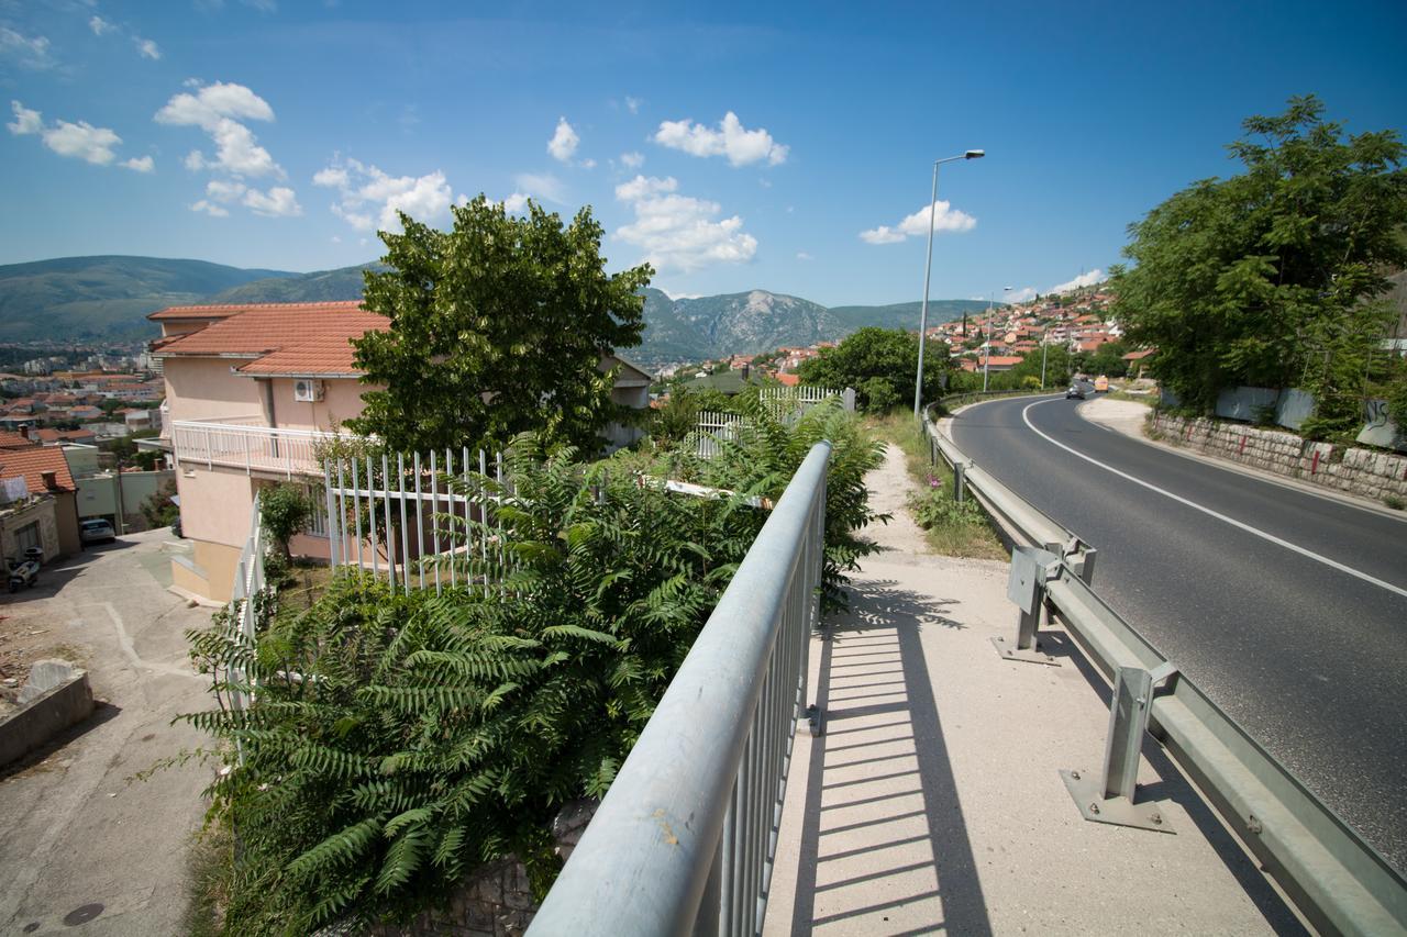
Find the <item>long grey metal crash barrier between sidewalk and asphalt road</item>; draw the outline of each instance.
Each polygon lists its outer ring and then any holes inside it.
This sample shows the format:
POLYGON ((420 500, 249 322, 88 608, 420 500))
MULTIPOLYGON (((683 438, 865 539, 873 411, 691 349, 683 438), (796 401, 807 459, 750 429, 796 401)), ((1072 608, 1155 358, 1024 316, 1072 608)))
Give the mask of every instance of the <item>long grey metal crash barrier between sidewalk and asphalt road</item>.
MULTIPOLYGON (((1407 933, 1407 881, 1099 597, 1089 585, 1090 549, 972 466, 931 421, 926 421, 926 428, 936 456, 965 466, 967 484, 982 505, 1021 540, 1047 552, 1048 563, 1038 566, 1044 581, 1034 584, 1033 609, 1038 613, 1044 605, 1054 611, 1086 657, 1116 681, 1117 689, 1134 673, 1144 674, 1144 687, 1168 681, 1164 691, 1152 695, 1151 705, 1147 694, 1137 699, 1148 732, 1196 782, 1310 926, 1331 934, 1407 933)), ((1029 547, 1026 553, 1030 556, 1029 547)), ((1030 627, 1034 619, 1029 618, 1023 613, 1017 644, 1034 630, 1030 627)), ((1116 727, 1134 726, 1135 734, 1123 740, 1124 751, 1142 734, 1142 723, 1120 720, 1117 706, 1116 695, 1112 754, 1120 747, 1116 727)), ((1067 785, 1074 793, 1069 778, 1067 785)), ((1081 809, 1089 816, 1086 805, 1081 809)))

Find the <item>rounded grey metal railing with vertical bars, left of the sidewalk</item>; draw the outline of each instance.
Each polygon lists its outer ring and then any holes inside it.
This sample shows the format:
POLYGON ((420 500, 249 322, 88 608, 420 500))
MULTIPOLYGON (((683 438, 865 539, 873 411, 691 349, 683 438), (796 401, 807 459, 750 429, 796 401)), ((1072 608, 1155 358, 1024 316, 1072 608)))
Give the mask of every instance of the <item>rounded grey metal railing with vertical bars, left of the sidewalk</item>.
POLYGON ((529 929, 757 934, 817 622, 826 464, 796 470, 529 929))

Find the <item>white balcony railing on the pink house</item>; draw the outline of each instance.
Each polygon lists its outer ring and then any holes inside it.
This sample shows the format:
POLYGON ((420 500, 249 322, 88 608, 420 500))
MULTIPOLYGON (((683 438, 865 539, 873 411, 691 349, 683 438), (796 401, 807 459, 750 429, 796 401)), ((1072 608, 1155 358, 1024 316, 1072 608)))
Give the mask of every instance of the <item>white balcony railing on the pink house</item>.
POLYGON ((294 476, 322 476, 318 446, 336 439, 336 433, 315 429, 279 429, 252 426, 249 416, 224 419, 177 419, 172 422, 172 447, 179 463, 204 464, 207 468, 243 468, 294 476))

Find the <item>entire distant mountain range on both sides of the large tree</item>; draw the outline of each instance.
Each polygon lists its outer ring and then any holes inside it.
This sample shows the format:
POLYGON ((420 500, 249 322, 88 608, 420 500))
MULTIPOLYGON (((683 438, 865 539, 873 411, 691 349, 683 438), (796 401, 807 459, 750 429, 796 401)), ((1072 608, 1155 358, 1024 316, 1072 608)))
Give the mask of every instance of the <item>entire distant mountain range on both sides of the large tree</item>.
MULTIPOLYGON (((149 312, 200 302, 356 300, 362 264, 315 273, 248 270, 204 260, 61 257, 0 266, 0 342, 135 340, 156 335, 149 312)), ((929 322, 985 308, 974 300, 929 302, 929 322)), ((628 352, 646 366, 754 355, 844 338, 867 325, 915 328, 917 302, 825 307, 767 290, 670 298, 644 290, 644 340, 628 352)))

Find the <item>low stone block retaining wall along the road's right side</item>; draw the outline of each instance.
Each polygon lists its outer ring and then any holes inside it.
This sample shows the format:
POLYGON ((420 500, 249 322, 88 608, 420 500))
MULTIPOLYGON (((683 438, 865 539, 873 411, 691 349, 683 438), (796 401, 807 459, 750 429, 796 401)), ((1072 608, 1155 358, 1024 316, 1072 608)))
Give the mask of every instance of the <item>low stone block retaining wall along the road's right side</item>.
POLYGON ((1157 414, 1162 440, 1362 498, 1407 501, 1407 456, 1317 443, 1279 429, 1157 414))

